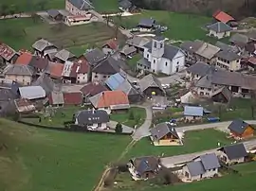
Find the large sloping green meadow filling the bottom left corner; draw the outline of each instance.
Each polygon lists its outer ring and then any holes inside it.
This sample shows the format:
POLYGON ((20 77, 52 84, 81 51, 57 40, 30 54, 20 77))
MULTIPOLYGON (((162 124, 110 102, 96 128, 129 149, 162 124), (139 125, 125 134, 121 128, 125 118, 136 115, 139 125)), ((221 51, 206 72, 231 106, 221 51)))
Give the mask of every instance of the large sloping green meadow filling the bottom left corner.
POLYGON ((5 119, 0 130, 0 190, 89 191, 130 141, 128 136, 34 129, 5 119))

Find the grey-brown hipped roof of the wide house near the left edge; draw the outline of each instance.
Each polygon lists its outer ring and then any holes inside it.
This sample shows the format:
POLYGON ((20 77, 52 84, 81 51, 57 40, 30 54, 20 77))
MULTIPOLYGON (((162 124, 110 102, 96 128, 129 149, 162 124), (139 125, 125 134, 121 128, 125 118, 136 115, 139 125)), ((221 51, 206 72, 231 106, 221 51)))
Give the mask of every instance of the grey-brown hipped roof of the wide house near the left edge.
POLYGON ((21 64, 9 64, 4 72, 5 75, 17 75, 17 76, 33 76, 35 70, 28 65, 21 64))

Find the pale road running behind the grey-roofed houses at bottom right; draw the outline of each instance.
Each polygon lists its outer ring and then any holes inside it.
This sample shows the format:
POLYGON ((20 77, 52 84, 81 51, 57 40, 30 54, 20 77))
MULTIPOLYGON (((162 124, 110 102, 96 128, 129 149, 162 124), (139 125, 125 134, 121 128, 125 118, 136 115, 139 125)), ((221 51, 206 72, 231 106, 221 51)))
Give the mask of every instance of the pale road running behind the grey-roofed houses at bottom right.
MULTIPOLYGON (((255 148, 256 140, 244 142, 244 145, 247 148, 247 150, 255 148)), ((178 165, 178 164, 182 164, 182 163, 191 161, 193 158, 195 158, 199 155, 203 155, 203 154, 207 154, 207 153, 211 153, 211 152, 215 152, 217 154, 218 153, 217 148, 205 150, 205 151, 201 151, 201 152, 194 152, 194 153, 190 153, 190 154, 176 155, 176 156, 172 156, 172 157, 164 157, 164 158, 161 158, 161 163, 162 163, 162 165, 164 165, 166 167, 173 167, 174 165, 178 165)))

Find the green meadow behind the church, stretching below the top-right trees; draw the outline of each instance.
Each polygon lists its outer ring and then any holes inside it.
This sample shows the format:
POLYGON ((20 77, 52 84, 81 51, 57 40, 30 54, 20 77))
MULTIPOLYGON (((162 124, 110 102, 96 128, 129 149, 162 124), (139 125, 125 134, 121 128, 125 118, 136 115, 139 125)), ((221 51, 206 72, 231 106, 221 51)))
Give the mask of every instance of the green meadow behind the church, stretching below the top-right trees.
MULTIPOLYGON (((157 24, 168 26, 168 30, 164 33, 165 37, 174 40, 208 40, 206 31, 201 27, 210 23, 211 18, 192 14, 182 14, 169 12, 164 10, 143 10, 141 14, 130 17, 121 18, 121 26, 127 28, 136 27, 141 18, 153 18, 157 24)), ((119 22, 119 18, 115 18, 119 22)))

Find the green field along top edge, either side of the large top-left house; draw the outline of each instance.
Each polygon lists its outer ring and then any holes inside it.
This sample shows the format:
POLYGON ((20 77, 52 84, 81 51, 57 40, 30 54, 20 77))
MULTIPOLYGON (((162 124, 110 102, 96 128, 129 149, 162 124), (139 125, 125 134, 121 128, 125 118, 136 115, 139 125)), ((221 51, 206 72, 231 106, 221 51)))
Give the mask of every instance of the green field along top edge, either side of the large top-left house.
MULTIPOLYGON (((0 6, 7 6, 15 12, 31 12, 46 9, 64 9, 65 0, 3 0, 0 6)), ((118 0, 92 0, 93 6, 99 12, 119 11, 118 0)))

